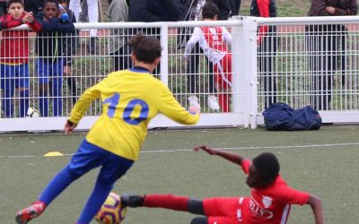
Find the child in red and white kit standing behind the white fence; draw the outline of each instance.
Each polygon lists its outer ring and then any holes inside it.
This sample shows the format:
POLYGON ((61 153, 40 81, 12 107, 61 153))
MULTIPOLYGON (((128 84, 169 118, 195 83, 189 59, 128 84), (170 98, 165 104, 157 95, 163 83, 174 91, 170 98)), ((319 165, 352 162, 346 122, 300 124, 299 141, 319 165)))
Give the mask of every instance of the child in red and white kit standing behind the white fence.
MULTIPOLYGON (((219 13, 215 4, 206 3, 202 9, 202 18, 204 21, 216 21, 219 13)), ((230 90, 232 80, 232 59, 226 47, 226 43, 231 42, 232 36, 224 27, 196 27, 187 42, 184 55, 189 60, 193 47, 198 44, 208 61, 214 65, 215 89, 218 92, 219 104, 223 112, 230 111, 229 94, 225 92, 230 90)), ((193 103, 193 99, 189 101, 193 103)), ((219 110, 219 107, 212 109, 219 110)))

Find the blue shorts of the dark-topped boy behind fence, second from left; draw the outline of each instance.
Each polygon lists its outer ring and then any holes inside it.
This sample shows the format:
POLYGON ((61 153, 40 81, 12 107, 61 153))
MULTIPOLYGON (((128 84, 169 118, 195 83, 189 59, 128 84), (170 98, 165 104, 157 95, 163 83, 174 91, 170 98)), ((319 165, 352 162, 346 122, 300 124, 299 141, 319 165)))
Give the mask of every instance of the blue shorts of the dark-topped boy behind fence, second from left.
POLYGON ((36 70, 38 71, 39 84, 48 83, 49 78, 62 79, 64 59, 59 58, 54 62, 51 59, 37 59, 36 70))

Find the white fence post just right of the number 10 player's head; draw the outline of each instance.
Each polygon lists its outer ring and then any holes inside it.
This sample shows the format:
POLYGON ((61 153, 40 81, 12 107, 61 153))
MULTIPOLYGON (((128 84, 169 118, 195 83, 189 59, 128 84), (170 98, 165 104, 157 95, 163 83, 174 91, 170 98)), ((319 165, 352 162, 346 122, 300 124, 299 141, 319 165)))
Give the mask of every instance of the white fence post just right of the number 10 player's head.
POLYGON ((162 56, 161 56, 161 81, 168 86, 168 26, 166 24, 161 25, 161 46, 162 46, 162 56))

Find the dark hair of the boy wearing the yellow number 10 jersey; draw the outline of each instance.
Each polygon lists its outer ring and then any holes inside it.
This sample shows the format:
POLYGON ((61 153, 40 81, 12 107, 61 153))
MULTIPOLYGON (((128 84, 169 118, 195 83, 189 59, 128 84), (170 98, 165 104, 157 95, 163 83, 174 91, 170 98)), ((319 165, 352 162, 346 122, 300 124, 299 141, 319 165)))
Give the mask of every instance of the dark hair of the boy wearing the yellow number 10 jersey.
POLYGON ((160 40, 142 35, 141 32, 129 39, 128 44, 138 61, 151 64, 161 56, 160 40))

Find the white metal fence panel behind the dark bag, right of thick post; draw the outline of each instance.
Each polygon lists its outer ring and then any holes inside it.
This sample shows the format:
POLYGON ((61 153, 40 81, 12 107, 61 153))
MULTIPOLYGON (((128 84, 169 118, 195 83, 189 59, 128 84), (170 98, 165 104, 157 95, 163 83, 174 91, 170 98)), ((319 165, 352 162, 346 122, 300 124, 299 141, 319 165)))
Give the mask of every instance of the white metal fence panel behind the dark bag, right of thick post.
POLYGON ((311 105, 326 123, 359 122, 357 16, 258 18, 261 26, 272 32, 258 47, 258 112, 280 101, 311 105))

